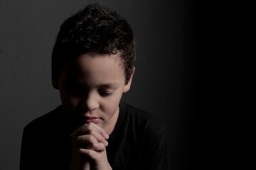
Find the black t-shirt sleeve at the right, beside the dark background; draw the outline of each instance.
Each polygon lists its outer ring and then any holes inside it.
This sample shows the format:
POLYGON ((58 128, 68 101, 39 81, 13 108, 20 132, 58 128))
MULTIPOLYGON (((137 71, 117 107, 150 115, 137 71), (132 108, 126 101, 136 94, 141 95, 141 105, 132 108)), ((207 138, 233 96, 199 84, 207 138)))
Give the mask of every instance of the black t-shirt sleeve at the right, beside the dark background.
POLYGON ((142 153, 139 169, 171 169, 169 145, 166 142, 166 130, 163 125, 146 129, 142 153))

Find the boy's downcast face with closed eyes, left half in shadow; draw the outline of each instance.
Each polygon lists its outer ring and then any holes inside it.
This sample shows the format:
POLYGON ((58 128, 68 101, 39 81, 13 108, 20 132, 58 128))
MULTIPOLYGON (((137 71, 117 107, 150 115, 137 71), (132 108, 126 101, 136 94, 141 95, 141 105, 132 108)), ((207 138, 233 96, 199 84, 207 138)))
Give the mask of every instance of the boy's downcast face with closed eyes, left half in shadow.
POLYGON ((87 53, 65 65, 55 87, 60 91, 65 111, 78 125, 92 122, 107 132, 117 121, 119 101, 129 91, 131 82, 132 76, 125 84, 119 52, 87 53))

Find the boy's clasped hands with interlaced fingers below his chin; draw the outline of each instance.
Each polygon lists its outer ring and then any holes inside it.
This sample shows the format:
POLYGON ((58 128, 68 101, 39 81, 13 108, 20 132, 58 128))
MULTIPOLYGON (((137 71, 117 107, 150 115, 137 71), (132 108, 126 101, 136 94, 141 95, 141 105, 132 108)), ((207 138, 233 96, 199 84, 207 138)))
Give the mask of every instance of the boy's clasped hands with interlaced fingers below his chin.
POLYGON ((109 136, 99 125, 88 123, 75 130, 70 170, 108 170, 106 147, 109 136))

